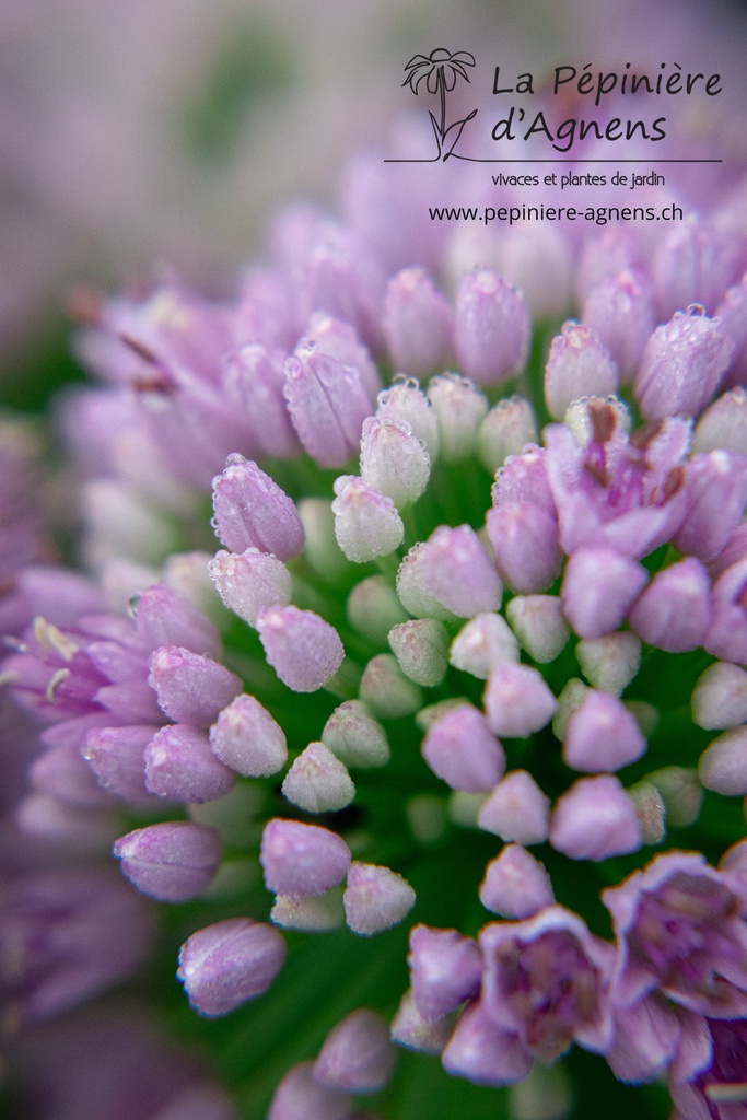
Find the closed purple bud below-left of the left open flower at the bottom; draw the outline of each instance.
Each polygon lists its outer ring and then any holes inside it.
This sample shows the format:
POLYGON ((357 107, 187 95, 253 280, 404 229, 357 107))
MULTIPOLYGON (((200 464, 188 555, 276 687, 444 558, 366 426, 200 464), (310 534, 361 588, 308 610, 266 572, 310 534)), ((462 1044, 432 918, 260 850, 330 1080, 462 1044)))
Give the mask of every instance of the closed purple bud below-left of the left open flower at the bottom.
POLYGON ((441 1062, 447 1073, 477 1085, 513 1085, 532 1068, 532 1056, 519 1036, 497 1026, 480 1000, 459 1016, 441 1062))

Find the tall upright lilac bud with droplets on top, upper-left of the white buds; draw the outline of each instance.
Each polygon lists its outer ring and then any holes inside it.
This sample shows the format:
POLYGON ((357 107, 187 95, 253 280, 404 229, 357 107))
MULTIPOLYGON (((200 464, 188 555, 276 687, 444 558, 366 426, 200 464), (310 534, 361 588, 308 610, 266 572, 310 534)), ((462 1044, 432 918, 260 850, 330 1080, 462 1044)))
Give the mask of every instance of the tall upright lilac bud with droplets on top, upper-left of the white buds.
POLYGON ((372 412, 357 370, 314 344, 299 347, 286 362, 286 400, 298 438, 320 467, 342 467, 357 451, 372 412))

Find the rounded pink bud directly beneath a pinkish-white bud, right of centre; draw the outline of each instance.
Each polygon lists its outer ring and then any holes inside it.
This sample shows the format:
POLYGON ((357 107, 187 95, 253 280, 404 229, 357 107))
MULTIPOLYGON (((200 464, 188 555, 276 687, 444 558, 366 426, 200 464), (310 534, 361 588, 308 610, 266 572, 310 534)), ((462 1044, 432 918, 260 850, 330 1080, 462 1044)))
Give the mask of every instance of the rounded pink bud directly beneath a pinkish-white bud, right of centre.
POLYGON ((529 665, 495 665, 483 696, 487 721, 496 735, 524 739, 552 719, 555 698, 542 674, 529 665))

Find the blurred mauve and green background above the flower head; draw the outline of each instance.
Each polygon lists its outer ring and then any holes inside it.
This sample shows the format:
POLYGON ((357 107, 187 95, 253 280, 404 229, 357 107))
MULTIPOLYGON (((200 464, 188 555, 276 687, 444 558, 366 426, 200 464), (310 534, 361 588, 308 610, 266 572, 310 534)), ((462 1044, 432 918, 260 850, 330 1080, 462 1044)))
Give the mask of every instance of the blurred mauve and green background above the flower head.
POLYGON ((1 0, 0 403, 76 375, 76 286, 171 265, 230 289, 283 199, 332 199, 412 108, 415 53, 470 49, 483 75, 676 59, 725 74, 739 115, 745 41, 736 0, 1 0))

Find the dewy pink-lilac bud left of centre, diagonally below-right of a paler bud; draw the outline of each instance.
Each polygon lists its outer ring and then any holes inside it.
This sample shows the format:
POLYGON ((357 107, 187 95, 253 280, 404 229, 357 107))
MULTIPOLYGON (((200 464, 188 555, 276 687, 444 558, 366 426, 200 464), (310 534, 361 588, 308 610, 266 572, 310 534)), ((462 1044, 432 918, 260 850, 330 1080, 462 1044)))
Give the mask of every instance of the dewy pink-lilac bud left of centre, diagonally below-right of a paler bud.
POLYGON ((345 657, 337 631, 312 610, 268 607, 256 628, 269 663, 293 692, 316 692, 345 657))

